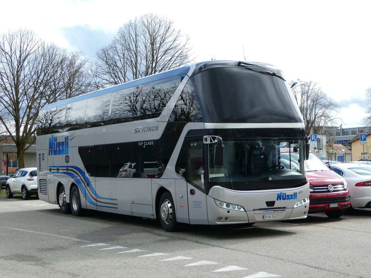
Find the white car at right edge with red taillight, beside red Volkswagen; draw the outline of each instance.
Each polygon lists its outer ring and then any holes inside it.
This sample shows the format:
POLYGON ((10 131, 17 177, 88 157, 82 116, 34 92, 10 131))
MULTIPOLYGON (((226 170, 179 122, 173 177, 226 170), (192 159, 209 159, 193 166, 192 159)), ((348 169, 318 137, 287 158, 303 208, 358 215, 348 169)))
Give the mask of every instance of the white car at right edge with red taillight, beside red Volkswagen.
POLYGON ((352 208, 371 208, 371 165, 347 162, 331 170, 347 181, 352 208))

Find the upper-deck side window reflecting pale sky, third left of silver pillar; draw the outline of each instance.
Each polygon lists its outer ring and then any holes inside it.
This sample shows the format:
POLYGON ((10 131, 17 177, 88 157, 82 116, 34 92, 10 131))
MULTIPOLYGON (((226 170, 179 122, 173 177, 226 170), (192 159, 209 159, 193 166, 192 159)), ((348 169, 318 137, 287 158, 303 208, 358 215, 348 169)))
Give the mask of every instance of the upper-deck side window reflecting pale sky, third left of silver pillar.
POLYGON ((104 125, 109 119, 112 93, 88 99, 86 104, 86 127, 104 125))

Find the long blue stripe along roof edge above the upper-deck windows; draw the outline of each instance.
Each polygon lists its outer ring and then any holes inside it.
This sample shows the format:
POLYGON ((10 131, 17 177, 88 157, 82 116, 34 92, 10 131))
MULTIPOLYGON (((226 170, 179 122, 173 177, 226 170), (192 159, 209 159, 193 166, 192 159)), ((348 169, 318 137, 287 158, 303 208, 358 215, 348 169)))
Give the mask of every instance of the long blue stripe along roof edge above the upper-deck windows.
POLYGON ((156 81, 156 80, 161 80, 161 79, 164 79, 164 78, 167 78, 167 77, 176 76, 176 75, 180 75, 180 74, 187 74, 189 69, 190 69, 189 66, 180 67, 178 69, 168 70, 166 72, 161 72, 161 73, 158 73, 158 74, 155 74, 155 75, 150 75, 150 76, 147 76, 147 77, 143 77, 141 79, 135 79, 135 80, 132 80, 132 81, 128 81, 128 82, 119 84, 119 85, 115 85, 115 86, 112 86, 112 87, 101 89, 101 90, 98 90, 98 91, 95 91, 95 92, 86 93, 86 94, 81 95, 81 96, 76 96, 76 97, 72 97, 70 99, 61 100, 59 102, 51 103, 49 105, 46 105, 43 109, 41 109, 41 111, 46 110, 46 109, 50 109, 50 108, 54 108, 54 107, 58 107, 58 106, 62 106, 62 105, 66 105, 66 104, 69 104, 69 103, 77 102, 79 100, 90 99, 91 97, 101 96, 101 95, 116 92, 116 91, 119 91, 119 90, 124 90, 124 89, 130 88, 130 87, 139 86, 139 85, 142 85, 144 83, 148 83, 148 82, 152 82, 152 81, 156 81))

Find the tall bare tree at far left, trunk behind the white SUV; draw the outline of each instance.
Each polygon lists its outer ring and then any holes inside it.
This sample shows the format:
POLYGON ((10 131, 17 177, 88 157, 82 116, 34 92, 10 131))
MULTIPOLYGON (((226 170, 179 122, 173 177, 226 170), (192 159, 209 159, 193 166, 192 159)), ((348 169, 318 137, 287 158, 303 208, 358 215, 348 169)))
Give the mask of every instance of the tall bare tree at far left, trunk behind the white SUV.
POLYGON ((0 123, 17 147, 19 167, 35 142, 36 118, 47 103, 88 90, 81 53, 46 44, 30 30, 0 37, 0 123))

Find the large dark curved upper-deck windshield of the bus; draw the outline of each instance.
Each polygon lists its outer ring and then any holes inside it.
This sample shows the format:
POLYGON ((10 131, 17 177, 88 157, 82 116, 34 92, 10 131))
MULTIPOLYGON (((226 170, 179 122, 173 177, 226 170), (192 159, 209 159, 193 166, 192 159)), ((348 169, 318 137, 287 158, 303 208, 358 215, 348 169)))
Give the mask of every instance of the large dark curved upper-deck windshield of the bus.
POLYGON ((235 66, 204 70, 191 80, 204 122, 302 122, 291 92, 278 77, 235 66))

